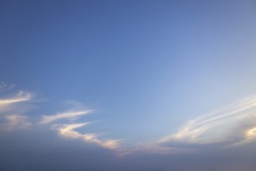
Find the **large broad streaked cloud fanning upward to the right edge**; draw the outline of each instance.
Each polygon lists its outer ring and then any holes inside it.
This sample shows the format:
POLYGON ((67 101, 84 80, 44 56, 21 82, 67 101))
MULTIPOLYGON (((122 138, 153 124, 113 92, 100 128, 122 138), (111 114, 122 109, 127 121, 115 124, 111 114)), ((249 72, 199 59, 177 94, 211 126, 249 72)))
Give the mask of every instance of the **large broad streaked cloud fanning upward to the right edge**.
POLYGON ((180 131, 160 139, 160 144, 244 145, 256 138, 256 96, 188 121, 180 131))

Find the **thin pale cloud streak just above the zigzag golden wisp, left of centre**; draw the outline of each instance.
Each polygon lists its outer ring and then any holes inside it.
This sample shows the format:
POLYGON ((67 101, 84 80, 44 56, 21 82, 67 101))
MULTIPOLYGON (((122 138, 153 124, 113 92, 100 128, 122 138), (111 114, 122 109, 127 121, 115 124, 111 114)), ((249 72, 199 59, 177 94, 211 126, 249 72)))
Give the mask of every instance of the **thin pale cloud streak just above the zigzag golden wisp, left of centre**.
POLYGON ((76 117, 79 117, 84 114, 92 113, 92 112, 93 110, 82 110, 82 111, 70 111, 70 112, 64 112, 64 113, 57 113, 54 115, 43 116, 39 124, 49 124, 55 120, 61 120, 61 119, 75 120, 76 117))

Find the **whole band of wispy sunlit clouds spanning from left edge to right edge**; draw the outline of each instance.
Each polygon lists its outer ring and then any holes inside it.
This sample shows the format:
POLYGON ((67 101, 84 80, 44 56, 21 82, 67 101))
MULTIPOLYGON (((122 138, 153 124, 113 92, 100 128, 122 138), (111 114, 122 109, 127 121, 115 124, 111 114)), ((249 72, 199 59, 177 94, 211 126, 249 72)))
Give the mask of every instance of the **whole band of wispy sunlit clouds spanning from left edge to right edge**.
POLYGON ((1 132, 45 125, 49 127, 49 131, 57 131, 58 135, 63 138, 80 139, 86 143, 112 149, 118 155, 137 152, 191 153, 202 151, 203 145, 212 145, 214 148, 236 148, 256 140, 256 96, 247 97, 230 106, 189 120, 179 131, 160 138, 160 140, 151 142, 144 140, 135 144, 128 144, 124 139, 101 138, 100 134, 77 131, 79 128, 93 124, 93 122, 79 122, 79 117, 95 111, 86 110, 79 102, 68 101, 69 106, 70 104, 73 106, 70 110, 43 115, 37 123, 29 121, 30 117, 26 116, 26 110, 22 113, 14 113, 18 110, 14 104, 19 103, 20 107, 32 99, 32 94, 24 91, 19 91, 16 96, 0 99, 1 132), (7 106, 8 108, 6 108, 7 106))

